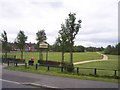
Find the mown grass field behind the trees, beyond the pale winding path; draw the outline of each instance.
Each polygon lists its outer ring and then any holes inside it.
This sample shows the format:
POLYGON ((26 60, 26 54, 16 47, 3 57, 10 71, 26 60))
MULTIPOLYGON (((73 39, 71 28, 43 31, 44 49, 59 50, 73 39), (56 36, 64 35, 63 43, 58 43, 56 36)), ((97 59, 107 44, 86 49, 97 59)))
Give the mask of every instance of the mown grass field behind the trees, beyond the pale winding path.
MULTIPOLYGON (((16 58, 20 58, 20 52, 11 52, 8 55, 16 55, 16 58)), ((30 60, 31 57, 34 57, 35 61, 39 60, 39 53, 38 52, 24 52, 24 59, 30 60)), ((46 60, 46 53, 43 52, 43 59, 46 60)), ((48 52, 48 61, 59 61, 61 62, 62 55, 61 52, 48 52)), ((96 60, 102 59, 102 56, 96 52, 75 52, 73 53, 73 61, 85 61, 85 60, 96 60)), ((67 52, 65 53, 65 61, 70 61, 70 54, 67 52)))

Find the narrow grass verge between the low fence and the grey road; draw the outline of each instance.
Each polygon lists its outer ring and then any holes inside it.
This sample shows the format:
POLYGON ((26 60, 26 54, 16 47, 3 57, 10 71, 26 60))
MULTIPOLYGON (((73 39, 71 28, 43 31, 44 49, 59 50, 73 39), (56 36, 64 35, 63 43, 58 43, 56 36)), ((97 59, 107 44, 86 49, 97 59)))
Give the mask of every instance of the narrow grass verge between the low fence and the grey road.
POLYGON ((67 77, 67 78, 76 78, 82 80, 95 80, 95 81, 104 81, 104 82, 118 82, 118 79, 109 78, 109 77, 98 77, 98 76, 90 76, 90 75, 78 75, 76 72, 69 73, 67 71, 61 72, 59 68, 50 68, 50 71, 47 70, 47 67, 40 66, 38 70, 35 69, 35 66, 29 66, 25 68, 25 66, 9 66, 6 67, 9 70, 16 70, 22 72, 30 72, 35 74, 44 74, 44 75, 52 75, 52 76, 59 76, 59 77, 67 77))

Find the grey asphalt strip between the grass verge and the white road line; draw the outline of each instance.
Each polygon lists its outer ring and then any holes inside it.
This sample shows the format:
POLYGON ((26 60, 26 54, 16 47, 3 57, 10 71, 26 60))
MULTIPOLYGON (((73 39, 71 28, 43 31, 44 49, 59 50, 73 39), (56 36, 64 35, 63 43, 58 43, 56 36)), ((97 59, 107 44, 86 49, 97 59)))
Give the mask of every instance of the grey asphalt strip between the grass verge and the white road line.
POLYGON ((118 83, 80 80, 3 69, 3 80, 49 88, 118 88, 118 83))

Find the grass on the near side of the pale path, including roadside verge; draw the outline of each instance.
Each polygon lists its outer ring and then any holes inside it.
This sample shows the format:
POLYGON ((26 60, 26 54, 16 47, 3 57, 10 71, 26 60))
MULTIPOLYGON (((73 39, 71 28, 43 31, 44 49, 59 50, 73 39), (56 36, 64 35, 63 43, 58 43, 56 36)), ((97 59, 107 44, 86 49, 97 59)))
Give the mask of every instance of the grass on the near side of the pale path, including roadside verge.
MULTIPOLYGON (((40 66, 38 69, 35 69, 35 66, 9 66, 6 67, 10 70, 17 70, 23 72, 31 72, 37 74, 46 74, 46 75, 54 75, 54 76, 62 76, 69 78, 78 78, 78 79, 86 79, 86 80, 97 80, 97 81, 106 81, 106 82, 118 82, 118 79, 114 76, 114 71, 118 70, 118 56, 117 55, 108 55, 109 60, 107 61, 99 61, 99 62, 91 62, 81 65, 75 65, 75 67, 79 67, 79 75, 75 71, 73 73, 69 73, 67 71, 61 72, 60 68, 50 67, 50 70, 47 70, 47 67, 40 66), (81 68, 90 68, 90 69, 81 69, 81 68), (108 70, 97 70, 97 76, 94 76, 94 68, 97 69, 108 69, 108 70), (110 70, 109 70, 110 69, 110 70)), ((118 76, 118 72, 117 72, 118 76)))

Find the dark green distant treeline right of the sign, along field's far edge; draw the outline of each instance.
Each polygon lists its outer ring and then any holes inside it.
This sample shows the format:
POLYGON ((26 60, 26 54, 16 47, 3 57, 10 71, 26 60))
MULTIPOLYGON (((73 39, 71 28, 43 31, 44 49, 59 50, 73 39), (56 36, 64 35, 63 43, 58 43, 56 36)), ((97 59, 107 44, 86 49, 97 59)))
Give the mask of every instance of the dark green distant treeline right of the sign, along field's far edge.
MULTIPOLYGON (((61 52, 62 48, 58 45, 51 45, 49 48, 51 51, 61 52)), ((67 46, 64 51, 69 52, 69 46, 67 46)), ((82 45, 73 46, 73 52, 95 52, 95 51, 103 51, 105 54, 111 55, 120 55, 120 43, 115 46, 108 45, 106 48, 103 47, 84 47, 82 45)))

